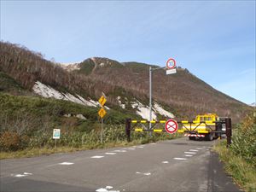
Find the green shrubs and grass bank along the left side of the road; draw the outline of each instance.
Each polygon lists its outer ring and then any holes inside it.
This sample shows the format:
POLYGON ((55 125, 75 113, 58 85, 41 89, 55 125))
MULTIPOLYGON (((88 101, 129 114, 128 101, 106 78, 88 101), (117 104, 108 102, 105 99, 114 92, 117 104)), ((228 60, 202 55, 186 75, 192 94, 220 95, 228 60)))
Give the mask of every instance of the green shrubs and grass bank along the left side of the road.
POLYGON ((130 146, 179 137, 158 133, 149 137, 146 133, 132 133, 132 142, 126 143, 125 119, 137 119, 137 115, 108 110, 101 143, 101 124, 97 115, 99 108, 1 93, 0 108, 0 159, 130 146), (61 129, 57 148, 52 138, 53 129, 61 129))

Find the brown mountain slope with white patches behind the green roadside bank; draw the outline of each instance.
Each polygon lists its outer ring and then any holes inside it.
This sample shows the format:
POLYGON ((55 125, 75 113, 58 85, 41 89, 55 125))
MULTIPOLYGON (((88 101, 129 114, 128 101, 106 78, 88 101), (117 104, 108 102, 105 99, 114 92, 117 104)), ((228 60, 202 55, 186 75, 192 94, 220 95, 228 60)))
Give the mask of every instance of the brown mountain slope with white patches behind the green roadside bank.
MULTIPOLYGON (((99 107, 97 100, 103 93, 109 111, 148 118, 148 64, 92 57, 62 65, 17 44, 0 45, 2 93, 53 97, 90 108, 99 107)), ((218 113, 237 122, 252 110, 182 67, 173 75, 166 75, 164 69, 153 72, 153 100, 154 119, 192 119, 197 113, 218 113)))

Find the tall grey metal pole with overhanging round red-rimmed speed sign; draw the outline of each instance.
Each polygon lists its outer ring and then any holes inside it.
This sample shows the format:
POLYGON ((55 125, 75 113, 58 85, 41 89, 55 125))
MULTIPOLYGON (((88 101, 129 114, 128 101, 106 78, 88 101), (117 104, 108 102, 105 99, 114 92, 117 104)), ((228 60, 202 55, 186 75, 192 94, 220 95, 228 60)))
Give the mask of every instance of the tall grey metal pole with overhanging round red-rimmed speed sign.
MULTIPOLYGON (((169 70, 166 70, 166 75, 177 73, 176 61, 174 59, 170 58, 166 62, 166 67, 169 69, 169 70)), ((158 70, 161 68, 166 68, 166 67, 158 67, 158 68, 152 68, 151 66, 149 67, 149 130, 151 130, 152 128, 152 125, 150 122, 152 120, 152 71, 158 70)))

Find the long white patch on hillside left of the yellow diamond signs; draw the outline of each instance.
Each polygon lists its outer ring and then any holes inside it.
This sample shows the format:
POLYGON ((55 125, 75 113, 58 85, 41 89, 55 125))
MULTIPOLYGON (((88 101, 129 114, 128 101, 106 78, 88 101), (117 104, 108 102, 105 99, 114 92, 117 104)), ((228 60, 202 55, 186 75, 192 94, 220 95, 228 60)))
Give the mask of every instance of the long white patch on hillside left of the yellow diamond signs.
MULTIPOLYGON (((90 101, 85 100, 82 96, 76 95, 73 96, 70 93, 62 93, 58 90, 53 89, 52 87, 42 84, 40 81, 37 81, 32 90, 34 90, 35 93, 37 93, 39 96, 44 96, 46 98, 55 98, 59 100, 66 100, 70 102, 76 102, 84 106, 90 106, 90 107, 97 107, 100 106, 99 102, 95 102, 90 99, 90 101)), ((107 106, 105 106, 108 110, 107 106)))

